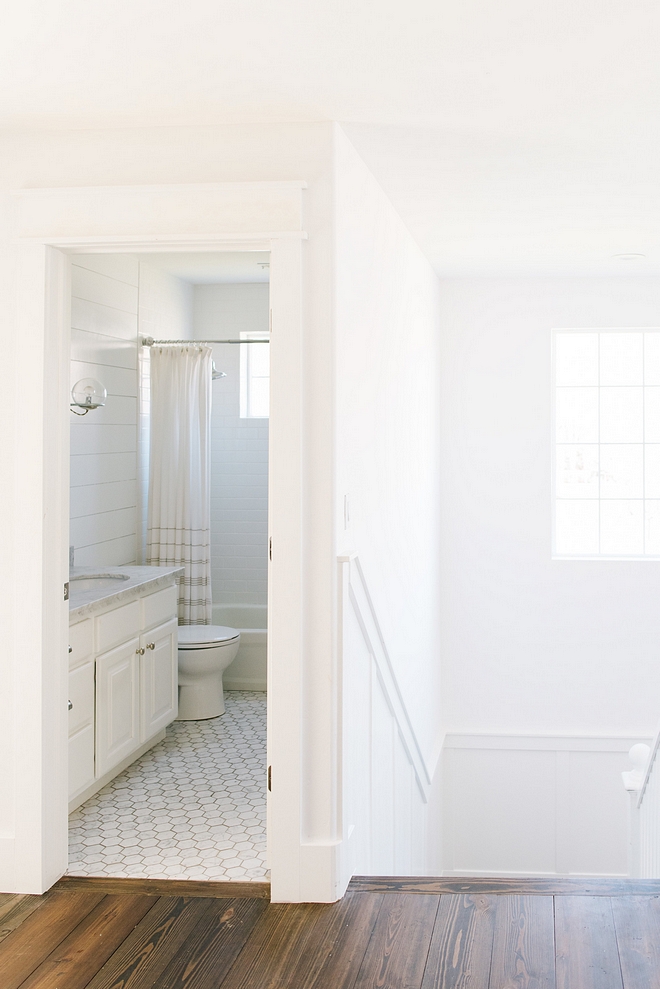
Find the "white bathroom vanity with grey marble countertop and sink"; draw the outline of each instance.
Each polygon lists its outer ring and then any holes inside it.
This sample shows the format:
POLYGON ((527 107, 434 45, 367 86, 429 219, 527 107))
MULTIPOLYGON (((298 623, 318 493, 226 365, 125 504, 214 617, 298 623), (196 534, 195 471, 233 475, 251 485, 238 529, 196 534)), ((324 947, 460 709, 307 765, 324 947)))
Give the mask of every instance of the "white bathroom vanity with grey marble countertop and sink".
POLYGON ((165 736, 177 715, 172 567, 71 571, 69 811, 165 736))

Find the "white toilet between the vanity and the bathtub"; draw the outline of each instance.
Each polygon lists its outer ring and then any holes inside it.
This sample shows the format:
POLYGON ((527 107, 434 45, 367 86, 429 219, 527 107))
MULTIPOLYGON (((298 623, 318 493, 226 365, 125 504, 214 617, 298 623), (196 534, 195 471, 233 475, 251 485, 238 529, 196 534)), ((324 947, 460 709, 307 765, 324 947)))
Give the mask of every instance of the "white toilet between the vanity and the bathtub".
POLYGON ((226 625, 179 626, 177 721, 202 721, 225 713, 222 674, 240 642, 238 629, 226 625))

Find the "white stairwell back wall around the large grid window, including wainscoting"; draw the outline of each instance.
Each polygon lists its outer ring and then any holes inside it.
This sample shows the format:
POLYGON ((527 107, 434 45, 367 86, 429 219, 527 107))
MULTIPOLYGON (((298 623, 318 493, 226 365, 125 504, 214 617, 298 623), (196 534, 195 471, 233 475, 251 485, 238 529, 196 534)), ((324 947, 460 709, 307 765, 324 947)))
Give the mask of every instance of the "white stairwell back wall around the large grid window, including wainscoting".
POLYGON ((620 772, 658 719, 660 567, 550 558, 550 332, 658 325, 659 311, 643 277, 442 282, 449 871, 624 869, 620 772), (488 744, 460 741, 476 735, 488 744))

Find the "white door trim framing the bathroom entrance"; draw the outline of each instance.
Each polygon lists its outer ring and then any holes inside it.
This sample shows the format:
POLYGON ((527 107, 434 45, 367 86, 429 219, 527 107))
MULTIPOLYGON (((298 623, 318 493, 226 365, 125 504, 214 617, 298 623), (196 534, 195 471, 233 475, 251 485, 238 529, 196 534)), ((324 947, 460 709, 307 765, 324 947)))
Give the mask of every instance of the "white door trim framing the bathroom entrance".
MULTIPOLYGON (((294 183, 36 189, 15 196, 19 367, 14 833, 0 888, 41 893, 67 866, 67 254, 271 251, 268 852, 274 900, 300 899, 302 679, 302 189, 294 183), (57 414, 57 409, 60 414, 57 414), (29 533, 29 538, 25 538, 29 533), (34 588, 37 583, 37 593, 34 588), (35 617, 36 612, 36 617, 35 617), (28 632, 25 632, 29 629, 28 632)), ((319 877, 320 889, 325 889, 319 877)), ((319 895, 323 898, 323 895, 319 895)))

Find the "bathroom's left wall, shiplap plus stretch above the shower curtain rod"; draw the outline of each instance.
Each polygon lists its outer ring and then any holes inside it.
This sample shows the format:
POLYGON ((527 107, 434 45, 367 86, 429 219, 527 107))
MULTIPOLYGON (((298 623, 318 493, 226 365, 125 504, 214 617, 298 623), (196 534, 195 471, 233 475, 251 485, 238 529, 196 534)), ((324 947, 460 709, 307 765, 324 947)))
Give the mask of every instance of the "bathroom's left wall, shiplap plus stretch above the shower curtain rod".
POLYGON ((192 286, 129 254, 71 266, 71 384, 98 378, 104 408, 71 413, 71 544, 78 566, 142 559, 148 472, 148 363, 138 410, 139 339, 192 334, 192 286), (138 413, 141 413, 140 415, 138 413))

